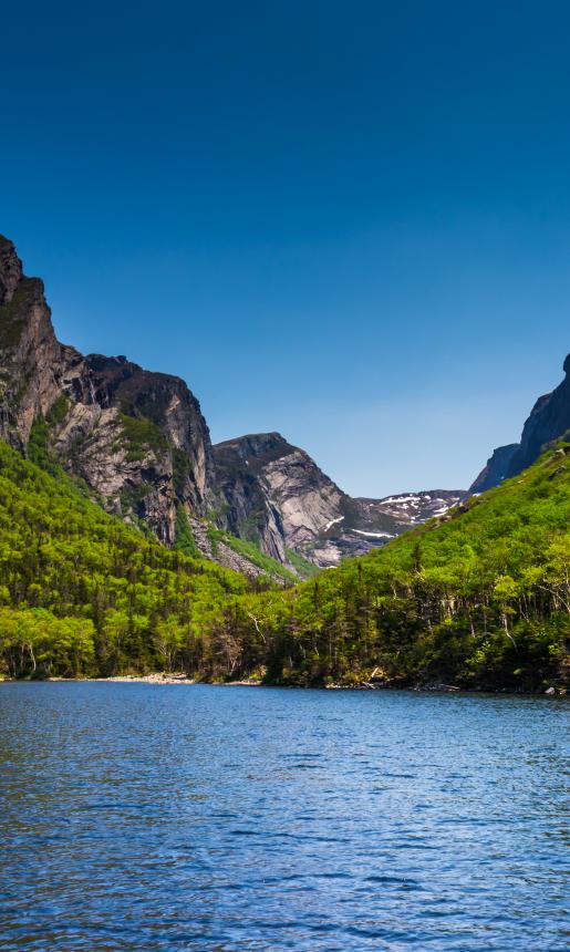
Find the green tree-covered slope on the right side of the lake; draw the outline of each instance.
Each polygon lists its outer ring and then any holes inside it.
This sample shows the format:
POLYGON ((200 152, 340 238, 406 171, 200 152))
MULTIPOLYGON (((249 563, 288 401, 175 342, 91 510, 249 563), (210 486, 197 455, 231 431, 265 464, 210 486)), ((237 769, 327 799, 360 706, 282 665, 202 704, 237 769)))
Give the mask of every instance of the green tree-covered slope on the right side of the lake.
POLYGON ((382 549, 291 591, 245 596, 227 617, 242 674, 251 665, 272 683, 562 690, 569 526, 563 444, 382 549))

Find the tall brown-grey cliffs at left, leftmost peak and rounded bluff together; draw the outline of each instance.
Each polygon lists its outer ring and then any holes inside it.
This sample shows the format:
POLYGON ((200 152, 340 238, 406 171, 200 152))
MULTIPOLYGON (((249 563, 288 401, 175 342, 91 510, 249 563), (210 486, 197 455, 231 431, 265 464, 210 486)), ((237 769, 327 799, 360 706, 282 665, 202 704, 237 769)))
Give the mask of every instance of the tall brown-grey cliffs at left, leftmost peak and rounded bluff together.
POLYGON ((208 427, 184 381, 55 338, 43 284, 0 239, 0 435, 25 451, 34 424, 110 511, 174 542, 176 510, 214 500, 208 427))

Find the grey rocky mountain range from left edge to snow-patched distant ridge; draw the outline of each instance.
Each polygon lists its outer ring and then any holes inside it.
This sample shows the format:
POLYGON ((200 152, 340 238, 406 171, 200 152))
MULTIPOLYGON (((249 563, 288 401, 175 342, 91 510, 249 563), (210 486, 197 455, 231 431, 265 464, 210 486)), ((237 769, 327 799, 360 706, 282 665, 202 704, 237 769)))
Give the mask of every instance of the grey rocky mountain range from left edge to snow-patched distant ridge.
POLYGON ((464 496, 352 499, 280 434, 211 445, 177 376, 58 341, 43 283, 0 237, 0 438, 61 464, 167 546, 281 582, 362 555, 464 496))

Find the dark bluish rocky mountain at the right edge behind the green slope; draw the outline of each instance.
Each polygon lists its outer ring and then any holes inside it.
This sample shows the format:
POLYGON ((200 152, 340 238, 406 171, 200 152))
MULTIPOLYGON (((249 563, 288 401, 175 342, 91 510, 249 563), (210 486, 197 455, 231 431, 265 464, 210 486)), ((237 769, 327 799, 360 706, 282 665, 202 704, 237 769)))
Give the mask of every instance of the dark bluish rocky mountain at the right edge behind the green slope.
POLYGON ((570 431, 570 354, 563 371, 564 380, 552 393, 540 396, 530 412, 520 443, 499 446, 469 488, 483 493, 498 486, 502 479, 522 473, 535 463, 548 444, 560 439, 570 431))

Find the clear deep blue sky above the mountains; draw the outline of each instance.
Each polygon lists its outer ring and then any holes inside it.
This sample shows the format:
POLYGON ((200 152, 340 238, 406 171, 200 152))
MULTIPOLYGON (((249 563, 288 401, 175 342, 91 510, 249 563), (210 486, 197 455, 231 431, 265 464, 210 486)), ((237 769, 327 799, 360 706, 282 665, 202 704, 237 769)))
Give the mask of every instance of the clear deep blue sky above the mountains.
POLYGON ((570 350, 570 4, 6 3, 0 231, 60 338, 342 488, 468 485, 570 350))

